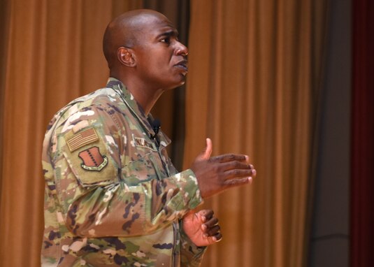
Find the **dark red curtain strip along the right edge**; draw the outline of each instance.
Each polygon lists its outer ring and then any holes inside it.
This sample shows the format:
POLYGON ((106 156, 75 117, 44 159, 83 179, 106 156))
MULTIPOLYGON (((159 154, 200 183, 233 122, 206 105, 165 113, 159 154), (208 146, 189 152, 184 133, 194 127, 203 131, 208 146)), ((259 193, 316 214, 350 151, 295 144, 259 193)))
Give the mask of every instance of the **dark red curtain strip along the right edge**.
POLYGON ((352 8, 351 266, 363 267, 374 264, 374 1, 352 8))

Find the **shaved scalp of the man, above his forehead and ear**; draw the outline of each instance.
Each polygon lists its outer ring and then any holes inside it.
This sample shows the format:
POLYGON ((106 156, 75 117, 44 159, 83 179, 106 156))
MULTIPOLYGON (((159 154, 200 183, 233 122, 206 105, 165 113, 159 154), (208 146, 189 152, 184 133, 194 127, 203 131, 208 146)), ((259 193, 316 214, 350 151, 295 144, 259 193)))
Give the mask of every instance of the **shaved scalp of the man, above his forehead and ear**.
POLYGON ((103 52, 110 69, 117 62, 118 48, 141 45, 143 29, 149 26, 154 18, 168 20, 157 11, 138 9, 123 13, 108 24, 103 36, 103 52))

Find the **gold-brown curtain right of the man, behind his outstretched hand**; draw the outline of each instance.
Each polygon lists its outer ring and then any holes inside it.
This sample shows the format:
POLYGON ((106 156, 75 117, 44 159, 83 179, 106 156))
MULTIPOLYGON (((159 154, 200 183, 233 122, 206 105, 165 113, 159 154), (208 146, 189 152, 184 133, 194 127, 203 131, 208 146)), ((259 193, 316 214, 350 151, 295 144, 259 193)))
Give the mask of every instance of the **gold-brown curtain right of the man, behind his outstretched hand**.
POLYGON ((252 185, 206 201, 222 242, 203 266, 305 266, 308 187, 322 68, 325 1, 192 0, 185 167, 249 154, 252 185))

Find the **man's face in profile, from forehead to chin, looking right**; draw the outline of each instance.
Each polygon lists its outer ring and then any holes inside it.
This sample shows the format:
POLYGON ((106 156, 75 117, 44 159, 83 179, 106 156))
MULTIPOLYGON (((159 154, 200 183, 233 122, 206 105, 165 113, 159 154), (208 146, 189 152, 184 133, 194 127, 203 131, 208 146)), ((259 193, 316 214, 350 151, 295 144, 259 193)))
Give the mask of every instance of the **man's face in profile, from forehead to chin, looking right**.
POLYGON ((187 48, 166 17, 145 17, 133 50, 141 79, 150 87, 172 89, 185 83, 187 48))

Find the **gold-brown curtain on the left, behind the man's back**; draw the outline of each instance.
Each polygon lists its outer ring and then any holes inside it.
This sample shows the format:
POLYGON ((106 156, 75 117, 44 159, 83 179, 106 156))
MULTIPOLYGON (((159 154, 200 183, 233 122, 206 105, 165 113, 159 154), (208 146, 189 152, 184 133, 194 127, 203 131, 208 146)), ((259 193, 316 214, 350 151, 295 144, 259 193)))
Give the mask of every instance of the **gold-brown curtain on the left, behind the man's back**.
POLYGON ((59 108, 106 84, 103 31, 112 17, 142 4, 8 1, 1 46, 6 59, 1 62, 0 266, 40 266, 45 128, 59 108))

